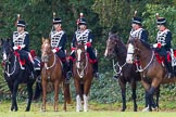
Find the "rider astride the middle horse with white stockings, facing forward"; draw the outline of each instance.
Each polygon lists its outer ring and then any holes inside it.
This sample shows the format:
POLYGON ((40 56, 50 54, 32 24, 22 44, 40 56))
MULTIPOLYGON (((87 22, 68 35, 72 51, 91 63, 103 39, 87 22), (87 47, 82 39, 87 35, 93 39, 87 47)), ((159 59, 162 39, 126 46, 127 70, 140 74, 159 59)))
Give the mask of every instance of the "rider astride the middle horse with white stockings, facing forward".
POLYGON ((78 25, 78 29, 75 31, 75 35, 73 37, 72 44, 71 44, 72 52, 71 52, 71 57, 70 57, 70 67, 71 67, 70 73, 72 74, 73 61, 75 58, 76 43, 79 41, 84 41, 87 48, 87 52, 93 63, 93 75, 96 78, 99 78, 98 60, 91 47, 93 36, 92 36, 91 30, 87 29, 87 21, 85 17, 83 17, 83 13, 80 13, 80 17, 77 20, 77 25, 78 25))

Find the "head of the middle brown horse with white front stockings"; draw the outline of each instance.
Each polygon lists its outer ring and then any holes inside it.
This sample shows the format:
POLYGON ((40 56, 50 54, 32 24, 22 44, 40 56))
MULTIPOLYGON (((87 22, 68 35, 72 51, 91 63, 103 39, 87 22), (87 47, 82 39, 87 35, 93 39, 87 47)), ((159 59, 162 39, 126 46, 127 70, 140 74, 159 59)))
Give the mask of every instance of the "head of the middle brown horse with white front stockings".
POLYGON ((76 55, 76 67, 81 68, 81 63, 85 62, 86 60, 86 46, 84 42, 78 42, 76 50, 75 50, 75 55, 76 55))

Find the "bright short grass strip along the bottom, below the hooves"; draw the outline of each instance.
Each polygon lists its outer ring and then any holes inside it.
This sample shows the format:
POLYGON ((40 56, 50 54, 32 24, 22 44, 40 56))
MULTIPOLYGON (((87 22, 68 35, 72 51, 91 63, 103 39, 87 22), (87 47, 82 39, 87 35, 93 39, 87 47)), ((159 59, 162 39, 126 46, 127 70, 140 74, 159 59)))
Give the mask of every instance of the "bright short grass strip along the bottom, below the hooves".
POLYGON ((134 113, 134 112, 88 112, 88 113, 76 113, 76 112, 17 112, 17 113, 0 113, 0 117, 175 117, 176 113, 134 113))

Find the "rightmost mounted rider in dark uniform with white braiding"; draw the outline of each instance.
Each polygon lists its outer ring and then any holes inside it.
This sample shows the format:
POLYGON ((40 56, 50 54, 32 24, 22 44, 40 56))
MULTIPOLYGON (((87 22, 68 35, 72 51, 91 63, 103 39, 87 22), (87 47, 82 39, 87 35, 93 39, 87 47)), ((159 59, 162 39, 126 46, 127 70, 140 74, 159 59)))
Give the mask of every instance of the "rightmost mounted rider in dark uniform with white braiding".
POLYGON ((166 20, 164 17, 159 17, 156 13, 156 24, 158 24, 158 35, 156 35, 156 42, 153 44, 154 51, 159 53, 159 55, 164 57, 164 64, 166 69, 168 70, 168 78, 174 77, 174 72, 172 67, 171 58, 168 58, 168 53, 171 52, 172 48, 172 32, 166 27, 166 20))

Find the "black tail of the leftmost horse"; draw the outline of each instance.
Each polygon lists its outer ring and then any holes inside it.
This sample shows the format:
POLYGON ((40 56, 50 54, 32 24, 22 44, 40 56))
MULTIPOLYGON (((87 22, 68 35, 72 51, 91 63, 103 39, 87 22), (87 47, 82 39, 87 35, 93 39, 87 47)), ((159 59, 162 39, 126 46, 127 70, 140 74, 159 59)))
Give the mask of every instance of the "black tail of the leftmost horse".
MULTIPOLYGON (((40 76, 39 76, 40 77, 40 76)), ((36 80, 36 88, 35 88, 35 93, 33 95, 33 100, 36 101, 40 98, 42 92, 42 88, 41 88, 41 81, 40 79, 37 78, 36 80)))

